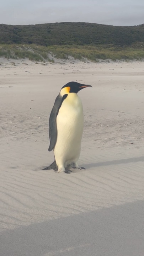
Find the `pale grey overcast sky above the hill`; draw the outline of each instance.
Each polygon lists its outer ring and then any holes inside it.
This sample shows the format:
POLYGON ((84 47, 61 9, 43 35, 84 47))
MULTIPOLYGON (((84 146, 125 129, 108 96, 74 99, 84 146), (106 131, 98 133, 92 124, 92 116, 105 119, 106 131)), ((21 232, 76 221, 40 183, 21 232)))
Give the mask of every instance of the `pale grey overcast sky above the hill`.
POLYGON ((0 24, 79 21, 140 25, 144 23, 144 0, 0 0, 0 24))

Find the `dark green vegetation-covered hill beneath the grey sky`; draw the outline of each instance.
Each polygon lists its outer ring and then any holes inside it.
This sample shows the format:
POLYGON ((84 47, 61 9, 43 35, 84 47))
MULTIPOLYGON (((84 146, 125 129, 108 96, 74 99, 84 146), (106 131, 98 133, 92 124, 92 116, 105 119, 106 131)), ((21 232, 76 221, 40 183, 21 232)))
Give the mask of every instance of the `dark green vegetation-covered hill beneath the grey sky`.
POLYGON ((0 25, 0 44, 130 46, 135 42, 144 42, 144 24, 124 27, 85 22, 0 25))

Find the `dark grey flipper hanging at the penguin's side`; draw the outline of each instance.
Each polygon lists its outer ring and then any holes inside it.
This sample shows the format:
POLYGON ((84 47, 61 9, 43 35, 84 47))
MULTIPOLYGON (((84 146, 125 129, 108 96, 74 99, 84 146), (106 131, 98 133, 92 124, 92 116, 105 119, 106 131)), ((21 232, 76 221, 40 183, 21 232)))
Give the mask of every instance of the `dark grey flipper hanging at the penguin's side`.
POLYGON ((57 142, 57 115, 59 112, 59 109, 62 105, 62 102, 64 99, 68 96, 68 94, 64 94, 63 97, 59 94, 57 98, 55 99, 54 106, 52 108, 52 111, 50 113, 49 117, 49 139, 50 139, 50 145, 48 148, 48 151, 52 151, 54 149, 55 144, 57 142))

